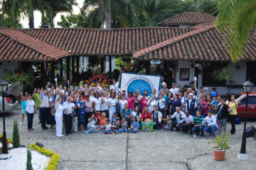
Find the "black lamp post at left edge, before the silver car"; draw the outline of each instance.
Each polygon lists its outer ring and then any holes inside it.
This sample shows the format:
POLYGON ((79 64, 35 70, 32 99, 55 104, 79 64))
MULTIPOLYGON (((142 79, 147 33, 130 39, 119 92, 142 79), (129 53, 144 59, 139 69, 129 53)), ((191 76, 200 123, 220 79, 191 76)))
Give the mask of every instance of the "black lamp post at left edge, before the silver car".
POLYGON ((3 101, 3 121, 4 121, 4 132, 3 132, 3 147, 2 147, 2 153, 8 154, 8 147, 6 142, 6 132, 5 132, 5 110, 4 110, 4 93, 7 91, 8 88, 8 82, 4 81, 2 79, 0 81, 0 93, 2 93, 2 101, 3 101))

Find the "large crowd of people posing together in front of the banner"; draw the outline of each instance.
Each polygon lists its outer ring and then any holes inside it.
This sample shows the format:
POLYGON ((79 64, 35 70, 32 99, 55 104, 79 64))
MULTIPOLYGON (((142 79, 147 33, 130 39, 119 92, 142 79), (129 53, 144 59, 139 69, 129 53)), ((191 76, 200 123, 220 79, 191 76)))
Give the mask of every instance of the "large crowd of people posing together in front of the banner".
POLYGON ((204 136, 204 131, 210 138, 216 133, 226 133, 226 123, 230 117, 232 129, 230 135, 235 133, 236 109, 238 103, 232 96, 229 106, 221 96, 210 96, 208 89, 194 84, 194 90, 188 88, 185 92, 172 84, 167 89, 164 77, 161 78, 162 88, 152 90, 148 94, 144 90, 127 92, 119 89, 118 81, 112 80, 112 84, 93 86, 81 82, 80 87, 69 84, 62 86, 47 83, 46 88, 35 88, 34 93, 22 93, 22 122, 24 114, 28 118, 28 131, 33 129, 34 113, 39 115, 39 123, 42 130, 55 128, 56 136, 62 137, 62 129, 65 133, 96 133, 118 134, 123 132, 137 133, 142 129, 142 123, 146 120, 154 123, 154 129, 166 129, 169 132, 184 131, 190 135, 196 133, 204 136), (50 86, 50 88, 48 88, 50 86), (34 98, 34 100, 32 99, 34 98), (223 128, 223 129, 222 129, 223 128), (223 130, 223 131, 222 131, 223 130))

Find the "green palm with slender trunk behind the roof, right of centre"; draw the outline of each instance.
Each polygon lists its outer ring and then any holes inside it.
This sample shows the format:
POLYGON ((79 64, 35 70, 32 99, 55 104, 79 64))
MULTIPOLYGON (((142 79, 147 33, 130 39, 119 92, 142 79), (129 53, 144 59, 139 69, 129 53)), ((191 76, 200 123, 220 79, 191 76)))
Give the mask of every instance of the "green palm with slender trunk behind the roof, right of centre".
POLYGON ((150 27, 153 26, 154 15, 166 9, 181 9, 180 0, 145 0, 144 11, 150 17, 150 27))

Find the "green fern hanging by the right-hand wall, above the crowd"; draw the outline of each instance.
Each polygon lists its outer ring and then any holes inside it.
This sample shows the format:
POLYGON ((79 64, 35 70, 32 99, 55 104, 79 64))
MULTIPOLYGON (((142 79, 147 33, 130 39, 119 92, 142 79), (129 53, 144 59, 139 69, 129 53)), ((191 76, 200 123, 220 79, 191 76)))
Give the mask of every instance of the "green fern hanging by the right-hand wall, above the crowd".
POLYGON ((234 77, 234 72, 233 71, 228 72, 227 68, 224 67, 222 69, 214 70, 211 76, 213 80, 217 80, 221 82, 222 80, 228 80, 228 79, 232 80, 232 78, 234 77), (233 75, 230 73, 233 73, 233 75))

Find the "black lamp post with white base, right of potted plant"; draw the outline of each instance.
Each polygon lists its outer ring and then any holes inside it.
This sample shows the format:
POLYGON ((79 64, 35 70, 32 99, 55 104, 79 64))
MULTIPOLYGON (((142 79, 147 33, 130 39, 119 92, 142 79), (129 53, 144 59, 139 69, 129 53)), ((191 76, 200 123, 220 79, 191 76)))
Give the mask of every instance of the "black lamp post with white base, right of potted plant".
POLYGON ((243 132, 241 150, 240 150, 240 153, 238 153, 238 159, 248 160, 248 155, 246 154, 246 119, 247 119, 248 96, 249 96, 249 93, 252 92, 254 84, 250 82, 250 80, 248 79, 248 81, 242 85, 243 85, 244 92, 246 93, 246 105, 245 105, 245 116, 244 116, 244 132, 243 132))

